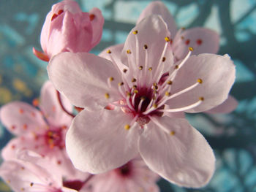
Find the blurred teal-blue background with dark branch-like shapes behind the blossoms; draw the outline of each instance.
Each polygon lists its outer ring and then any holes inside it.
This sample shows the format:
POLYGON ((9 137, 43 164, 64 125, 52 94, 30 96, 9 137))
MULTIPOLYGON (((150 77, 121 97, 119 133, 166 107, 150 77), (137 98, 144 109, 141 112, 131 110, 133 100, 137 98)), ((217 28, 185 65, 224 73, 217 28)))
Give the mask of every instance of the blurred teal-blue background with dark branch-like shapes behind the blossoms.
MULTIPOLYGON (((53 0, 0 1, 0 105, 31 101, 48 79, 46 63, 32 53, 40 50, 39 35, 53 0)), ((102 41, 94 48, 124 42, 140 12, 151 2, 78 0, 83 11, 102 10, 105 26, 102 41)), ((190 122, 206 137, 217 156, 217 171, 202 189, 178 188, 159 181, 161 191, 256 191, 256 1, 173 0, 164 1, 178 27, 204 26, 221 35, 219 54, 228 53, 236 64, 236 84, 231 91, 239 101, 229 115, 189 115, 190 122)), ((0 125, 0 145, 11 138, 0 125)), ((0 183, 0 191, 9 191, 0 183)))

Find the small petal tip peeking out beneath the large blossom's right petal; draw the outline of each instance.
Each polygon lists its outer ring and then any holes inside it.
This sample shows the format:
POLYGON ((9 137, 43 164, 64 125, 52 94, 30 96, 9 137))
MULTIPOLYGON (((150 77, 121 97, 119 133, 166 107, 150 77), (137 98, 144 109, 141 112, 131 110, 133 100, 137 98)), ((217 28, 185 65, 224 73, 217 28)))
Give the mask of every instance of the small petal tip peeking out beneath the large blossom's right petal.
POLYGON ((211 110, 206 111, 207 113, 229 113, 236 110, 238 106, 238 101, 233 96, 228 96, 227 99, 222 103, 219 104, 217 107, 214 107, 211 110))

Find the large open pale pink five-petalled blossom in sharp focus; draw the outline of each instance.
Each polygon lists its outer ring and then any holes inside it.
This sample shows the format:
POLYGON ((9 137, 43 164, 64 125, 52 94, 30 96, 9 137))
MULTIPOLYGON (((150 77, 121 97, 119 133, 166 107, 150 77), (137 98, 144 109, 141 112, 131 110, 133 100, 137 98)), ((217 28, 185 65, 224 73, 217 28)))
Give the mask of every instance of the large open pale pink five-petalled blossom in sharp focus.
POLYGON ((170 32, 157 15, 132 29, 121 54, 118 48, 105 53, 110 60, 61 53, 48 65, 55 87, 88 109, 67 132, 72 163, 98 174, 140 153, 151 170, 172 183, 206 185, 214 173, 214 153, 184 112, 210 110, 227 99, 235 80, 233 61, 228 55, 190 56, 189 48, 174 64, 170 32))

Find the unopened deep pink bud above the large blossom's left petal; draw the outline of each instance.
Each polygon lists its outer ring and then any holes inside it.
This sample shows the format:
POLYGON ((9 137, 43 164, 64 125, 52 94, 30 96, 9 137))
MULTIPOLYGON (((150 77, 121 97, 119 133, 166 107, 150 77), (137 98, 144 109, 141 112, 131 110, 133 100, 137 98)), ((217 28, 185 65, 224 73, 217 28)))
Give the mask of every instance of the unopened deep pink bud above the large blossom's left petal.
POLYGON ((34 55, 49 61, 61 52, 89 52, 102 37, 104 18, 99 9, 82 12, 78 3, 64 0, 54 4, 41 32, 44 53, 33 49, 34 55))

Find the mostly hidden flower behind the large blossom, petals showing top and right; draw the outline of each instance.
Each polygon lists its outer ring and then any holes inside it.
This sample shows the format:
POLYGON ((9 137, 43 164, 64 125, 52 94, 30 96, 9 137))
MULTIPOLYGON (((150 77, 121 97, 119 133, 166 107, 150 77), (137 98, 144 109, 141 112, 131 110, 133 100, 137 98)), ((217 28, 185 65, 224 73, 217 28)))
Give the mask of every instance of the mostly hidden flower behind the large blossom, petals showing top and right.
MULTIPOLYGON (((193 47, 194 51, 191 55, 200 53, 217 53, 219 50, 219 34, 208 28, 181 28, 177 29, 175 20, 170 14, 165 4, 161 1, 151 2, 146 9, 141 12, 137 23, 140 23, 143 18, 148 15, 161 15, 167 23, 167 28, 170 31, 170 47, 173 51, 175 61, 180 61, 187 55, 189 47, 193 47)), ((208 113, 229 113, 236 109, 238 101, 233 96, 228 98, 219 106, 208 110, 208 113)))

